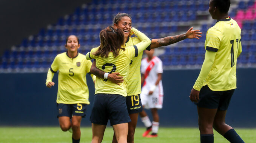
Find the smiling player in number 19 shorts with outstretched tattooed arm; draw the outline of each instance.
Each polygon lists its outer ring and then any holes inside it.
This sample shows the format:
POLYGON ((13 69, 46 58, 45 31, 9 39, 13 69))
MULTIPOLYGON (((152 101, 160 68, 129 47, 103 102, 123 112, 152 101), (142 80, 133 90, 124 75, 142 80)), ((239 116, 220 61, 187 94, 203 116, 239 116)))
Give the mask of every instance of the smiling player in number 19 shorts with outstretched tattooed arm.
MULTIPOLYGON (((130 31, 131 31, 131 17, 128 14, 125 13, 119 13, 117 14, 113 19, 113 26, 115 28, 120 28, 123 30, 124 36, 125 36, 125 45, 124 47, 128 47, 134 44, 137 44, 140 42, 140 39, 137 37, 130 37, 130 31)), ((177 36, 168 36, 161 39, 152 39, 151 45, 147 49, 150 50, 150 48, 157 48, 161 47, 163 45, 170 45, 176 42, 179 42, 181 40, 184 40, 186 38, 197 38, 201 37, 199 34, 202 34, 199 32, 199 30, 192 30, 193 28, 189 29, 187 33, 177 35, 177 36)), ((134 143, 134 133, 135 128, 137 125, 137 119, 138 119, 138 113, 142 111, 142 104, 140 100, 140 62, 142 59, 143 52, 138 53, 138 57, 134 57, 130 63, 130 72, 128 76, 128 92, 126 97, 126 104, 129 116, 131 118, 131 122, 129 122, 129 132, 128 132, 128 143, 134 143)), ((93 62, 93 65, 91 67, 92 74, 96 75, 97 77, 104 78, 105 72, 100 71, 95 66, 95 61, 93 62)), ((111 73, 108 75, 108 79, 112 81, 113 83, 119 84, 123 81, 122 76, 119 76, 119 73, 111 73)), ((113 143, 116 143, 116 138, 113 136, 113 143)))

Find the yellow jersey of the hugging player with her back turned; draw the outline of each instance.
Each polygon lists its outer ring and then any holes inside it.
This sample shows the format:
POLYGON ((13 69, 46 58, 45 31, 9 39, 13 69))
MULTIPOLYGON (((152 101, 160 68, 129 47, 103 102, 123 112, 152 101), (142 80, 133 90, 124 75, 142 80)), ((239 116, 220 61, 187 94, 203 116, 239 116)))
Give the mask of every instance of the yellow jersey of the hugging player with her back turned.
POLYGON ((125 50, 120 50, 119 56, 116 58, 114 58, 112 52, 109 52, 108 57, 94 56, 93 53, 98 50, 98 47, 93 48, 86 54, 86 59, 96 59, 96 67, 98 69, 108 73, 119 72, 120 76, 123 77, 123 83, 120 83, 120 86, 107 79, 96 77, 95 94, 108 93, 127 96, 127 81, 131 60, 133 57, 138 57, 138 54, 142 53, 151 43, 150 39, 137 29, 133 28, 131 31, 138 36, 141 42, 134 46, 126 47, 125 50))

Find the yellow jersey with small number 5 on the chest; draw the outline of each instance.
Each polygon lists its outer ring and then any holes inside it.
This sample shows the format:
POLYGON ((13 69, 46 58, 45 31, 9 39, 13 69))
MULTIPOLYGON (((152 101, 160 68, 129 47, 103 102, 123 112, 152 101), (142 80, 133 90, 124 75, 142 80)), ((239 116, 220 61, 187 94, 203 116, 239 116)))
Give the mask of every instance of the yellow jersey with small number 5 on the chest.
MULTIPOLYGON (((85 55, 78 53, 70 58, 67 54, 58 54, 47 73, 46 85, 52 81, 54 73, 59 71, 57 103, 89 104, 89 90, 86 84, 86 74, 89 73, 92 62, 85 55)), ((93 81, 96 76, 91 74, 93 81)))

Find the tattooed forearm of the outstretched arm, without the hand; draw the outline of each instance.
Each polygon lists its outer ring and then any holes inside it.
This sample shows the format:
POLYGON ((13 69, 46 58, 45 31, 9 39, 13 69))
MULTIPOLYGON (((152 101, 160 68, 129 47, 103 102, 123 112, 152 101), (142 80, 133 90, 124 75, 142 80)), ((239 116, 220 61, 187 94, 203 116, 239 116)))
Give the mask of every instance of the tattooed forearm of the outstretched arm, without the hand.
POLYGON ((181 34, 181 35, 168 36, 165 38, 157 39, 157 42, 159 43, 159 45, 167 46, 167 45, 182 41, 184 39, 186 39, 186 33, 181 34))

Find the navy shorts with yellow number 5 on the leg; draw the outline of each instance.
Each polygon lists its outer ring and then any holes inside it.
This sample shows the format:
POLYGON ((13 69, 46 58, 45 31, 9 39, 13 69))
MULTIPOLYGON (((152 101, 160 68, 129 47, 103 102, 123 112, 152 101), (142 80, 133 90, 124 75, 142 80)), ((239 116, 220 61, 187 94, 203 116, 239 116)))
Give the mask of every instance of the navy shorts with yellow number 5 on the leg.
POLYGON ((73 116, 82 116, 85 117, 87 104, 57 104, 58 117, 68 116, 70 119, 73 116))

